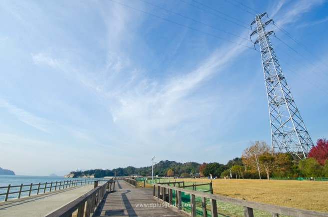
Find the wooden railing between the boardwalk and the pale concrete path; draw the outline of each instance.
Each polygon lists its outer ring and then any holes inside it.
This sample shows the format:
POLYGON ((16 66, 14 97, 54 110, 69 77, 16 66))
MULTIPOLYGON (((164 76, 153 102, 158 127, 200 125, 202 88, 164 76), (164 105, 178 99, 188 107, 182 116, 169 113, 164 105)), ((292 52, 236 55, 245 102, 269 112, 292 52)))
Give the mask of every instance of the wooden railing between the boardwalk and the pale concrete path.
POLYGON ((113 181, 113 179, 110 179, 110 181, 107 181, 101 186, 95 187, 85 195, 82 195, 81 197, 59 208, 53 213, 48 214, 46 217, 71 217, 76 210, 76 217, 90 217, 92 216, 91 214, 95 212, 101 200, 105 196, 106 189, 108 189, 109 193, 114 192, 115 181, 113 181), (111 190, 113 183, 114 188, 111 190))

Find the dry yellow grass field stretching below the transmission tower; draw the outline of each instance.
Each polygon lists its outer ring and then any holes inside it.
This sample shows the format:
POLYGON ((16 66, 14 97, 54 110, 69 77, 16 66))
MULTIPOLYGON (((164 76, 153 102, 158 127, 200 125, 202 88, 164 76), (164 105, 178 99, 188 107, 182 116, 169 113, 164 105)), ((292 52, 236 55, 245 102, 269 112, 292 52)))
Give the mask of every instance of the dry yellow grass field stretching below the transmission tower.
MULTIPOLYGON (((210 179, 178 180, 210 182, 210 179)), ((212 182, 216 195, 328 213, 326 181, 213 179, 212 182)))

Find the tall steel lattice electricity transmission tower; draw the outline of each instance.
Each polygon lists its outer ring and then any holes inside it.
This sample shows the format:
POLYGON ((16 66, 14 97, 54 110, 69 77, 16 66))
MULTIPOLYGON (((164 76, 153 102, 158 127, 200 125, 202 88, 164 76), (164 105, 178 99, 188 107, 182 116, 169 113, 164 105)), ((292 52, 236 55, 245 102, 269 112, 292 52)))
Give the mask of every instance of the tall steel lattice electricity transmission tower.
POLYGON ((266 14, 267 12, 255 16, 251 27, 256 24, 256 28, 251 33, 251 37, 256 33, 258 34, 254 46, 257 43, 260 44, 269 102, 272 149, 278 153, 288 152, 299 158, 306 158, 313 147, 313 142, 296 107, 278 58, 269 40, 269 36, 274 31, 266 32, 265 30, 265 27, 273 20, 269 19, 265 22, 261 20, 266 14))

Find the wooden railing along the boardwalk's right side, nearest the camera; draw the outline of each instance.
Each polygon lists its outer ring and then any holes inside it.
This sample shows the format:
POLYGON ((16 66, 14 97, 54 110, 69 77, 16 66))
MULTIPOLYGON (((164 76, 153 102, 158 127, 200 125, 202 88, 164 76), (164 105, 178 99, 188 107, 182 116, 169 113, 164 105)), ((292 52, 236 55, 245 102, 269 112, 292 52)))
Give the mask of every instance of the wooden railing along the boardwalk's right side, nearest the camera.
POLYGON ((163 202, 166 206, 175 209, 178 213, 187 214, 188 216, 196 216, 196 197, 201 198, 201 210, 203 217, 207 217, 207 213, 211 213, 212 217, 218 216, 217 202, 225 202, 233 205, 243 207, 245 217, 254 217, 253 209, 271 213, 272 217, 279 215, 297 216, 297 217, 328 217, 328 213, 301 210, 295 208, 288 208, 276 205, 262 204, 252 201, 245 201, 236 198, 229 198, 220 195, 213 195, 203 192, 196 192, 177 187, 153 184, 153 197, 163 202), (157 191, 156 191, 157 188, 157 191), (183 194, 182 194, 183 193, 183 194), (174 194, 174 198, 173 198, 174 194), (182 204, 182 195, 190 195, 189 206, 182 204), (173 200, 175 203, 173 203, 173 200), (206 201, 209 200, 210 209, 206 206, 206 201), (183 211, 182 207, 190 207, 190 213, 183 211))

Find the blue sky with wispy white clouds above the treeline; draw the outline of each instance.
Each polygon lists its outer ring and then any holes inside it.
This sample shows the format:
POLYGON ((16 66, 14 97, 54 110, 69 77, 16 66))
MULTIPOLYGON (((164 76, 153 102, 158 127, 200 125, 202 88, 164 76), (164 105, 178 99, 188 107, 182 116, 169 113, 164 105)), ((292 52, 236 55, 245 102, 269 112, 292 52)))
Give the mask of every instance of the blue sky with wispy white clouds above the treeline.
POLYGON ((1 0, 0 167, 225 164, 270 144, 252 9, 310 50, 267 26, 310 136, 327 138, 327 0, 1 0))

